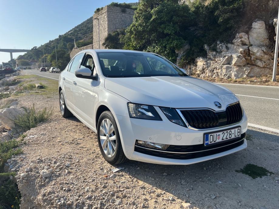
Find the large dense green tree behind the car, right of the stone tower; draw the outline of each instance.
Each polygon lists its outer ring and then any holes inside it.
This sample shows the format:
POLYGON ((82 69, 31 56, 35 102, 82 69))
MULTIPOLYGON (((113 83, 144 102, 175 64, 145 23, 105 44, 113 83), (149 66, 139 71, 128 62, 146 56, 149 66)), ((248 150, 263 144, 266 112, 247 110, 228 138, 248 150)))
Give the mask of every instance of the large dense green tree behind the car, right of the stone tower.
POLYGON ((189 6, 177 0, 142 0, 121 41, 125 49, 151 51, 175 61, 175 49, 185 44, 193 22, 189 6))

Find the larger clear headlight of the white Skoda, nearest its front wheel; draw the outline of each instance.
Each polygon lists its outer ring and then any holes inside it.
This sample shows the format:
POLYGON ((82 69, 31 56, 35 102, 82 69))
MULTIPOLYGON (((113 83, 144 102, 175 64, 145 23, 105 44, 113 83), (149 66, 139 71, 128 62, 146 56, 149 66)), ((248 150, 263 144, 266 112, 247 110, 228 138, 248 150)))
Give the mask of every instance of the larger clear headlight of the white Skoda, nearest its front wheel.
POLYGON ((128 103, 128 111, 130 118, 162 121, 155 108, 151 105, 128 103))

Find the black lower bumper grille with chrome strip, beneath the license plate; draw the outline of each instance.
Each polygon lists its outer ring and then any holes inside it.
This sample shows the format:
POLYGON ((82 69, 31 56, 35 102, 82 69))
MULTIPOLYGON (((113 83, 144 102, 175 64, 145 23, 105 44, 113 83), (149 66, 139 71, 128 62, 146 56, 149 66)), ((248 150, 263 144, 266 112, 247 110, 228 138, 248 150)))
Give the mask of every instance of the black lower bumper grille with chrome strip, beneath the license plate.
POLYGON ((156 157, 161 157, 161 158, 172 158, 172 159, 180 159, 180 160, 194 159, 194 158, 201 158, 201 157, 221 153, 239 147, 244 143, 245 136, 246 134, 243 133, 241 134, 240 138, 233 139, 230 141, 224 141, 223 143, 216 143, 211 146, 204 146, 203 144, 187 145, 187 146, 171 145, 166 150, 168 152, 162 152, 160 150, 149 150, 143 147, 136 147, 136 146, 134 148, 134 151, 156 156, 156 157), (189 152, 189 153, 183 153, 183 152, 189 152))

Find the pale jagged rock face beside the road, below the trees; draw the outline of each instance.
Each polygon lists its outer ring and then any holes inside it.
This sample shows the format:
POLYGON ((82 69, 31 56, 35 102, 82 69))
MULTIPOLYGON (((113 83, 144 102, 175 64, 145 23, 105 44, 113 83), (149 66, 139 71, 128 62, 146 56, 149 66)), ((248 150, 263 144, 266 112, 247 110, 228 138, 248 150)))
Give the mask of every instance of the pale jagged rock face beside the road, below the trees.
MULTIPOLYGON (((271 22, 274 27, 277 19, 271 22)), ((236 34, 232 43, 217 43, 217 50, 205 46, 207 57, 199 57, 188 68, 200 77, 242 78, 271 75, 273 55, 264 21, 256 20, 248 33, 236 34)))

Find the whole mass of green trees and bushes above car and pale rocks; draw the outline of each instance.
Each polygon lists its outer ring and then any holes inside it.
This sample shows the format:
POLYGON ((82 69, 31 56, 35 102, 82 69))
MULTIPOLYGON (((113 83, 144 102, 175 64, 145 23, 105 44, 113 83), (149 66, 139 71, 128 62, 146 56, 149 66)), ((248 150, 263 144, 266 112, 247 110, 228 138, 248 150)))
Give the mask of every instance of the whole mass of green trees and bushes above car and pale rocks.
POLYGON ((176 0, 141 0, 125 35, 111 33, 103 45, 107 48, 123 46, 124 49, 151 51, 175 62, 175 49, 189 44, 189 50, 179 63, 184 67, 196 57, 206 55, 205 44, 214 49, 218 40, 232 41, 236 32, 250 29, 255 19, 268 23, 277 14, 276 2, 194 0, 181 5, 176 0))

